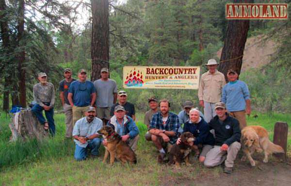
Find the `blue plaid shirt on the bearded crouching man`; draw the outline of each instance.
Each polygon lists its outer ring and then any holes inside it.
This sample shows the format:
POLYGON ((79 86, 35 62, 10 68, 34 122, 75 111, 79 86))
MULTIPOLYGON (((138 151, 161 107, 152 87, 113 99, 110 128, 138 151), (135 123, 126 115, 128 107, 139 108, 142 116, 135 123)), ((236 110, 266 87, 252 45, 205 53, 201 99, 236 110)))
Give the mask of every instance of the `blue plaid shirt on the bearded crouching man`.
POLYGON ((174 131, 176 132, 175 136, 169 136, 170 143, 174 144, 176 143, 178 139, 178 129, 179 129, 179 117, 177 114, 174 114, 172 112, 169 112, 168 119, 166 121, 166 125, 164 126, 162 124, 162 113, 157 112, 153 115, 152 120, 150 122, 149 129, 157 128, 160 130, 166 130, 166 131, 174 131))

